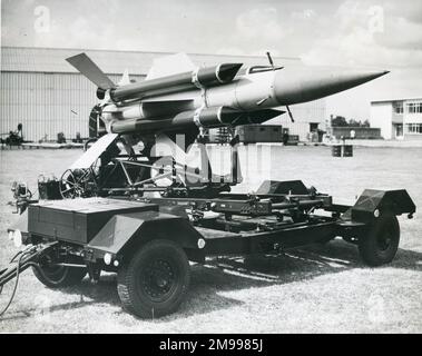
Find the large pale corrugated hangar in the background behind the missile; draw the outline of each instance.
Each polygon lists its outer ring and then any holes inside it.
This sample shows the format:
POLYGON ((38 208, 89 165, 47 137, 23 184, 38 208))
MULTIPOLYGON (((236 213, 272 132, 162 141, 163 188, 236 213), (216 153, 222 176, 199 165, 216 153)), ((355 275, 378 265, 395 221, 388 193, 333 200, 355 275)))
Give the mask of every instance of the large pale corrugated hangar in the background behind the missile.
MULTIPOLYGON (((58 48, 1 48, 1 98, 0 132, 16 130, 23 125, 26 140, 38 141, 42 138, 55 140, 58 132, 67 139, 77 132, 88 137, 88 117, 97 103, 96 87, 76 71, 65 59, 87 52, 89 57, 115 82, 127 68, 130 79, 143 80, 155 58, 165 52, 114 51, 58 48)), ((265 56, 220 56, 189 55, 198 65, 212 66, 218 62, 243 62, 246 66, 267 65, 265 56)), ((301 66, 297 58, 275 57, 277 66, 301 66)), ((325 126, 325 101, 292 106, 295 122, 288 116, 275 118, 268 123, 289 127, 292 135, 305 140, 307 134, 325 126)))

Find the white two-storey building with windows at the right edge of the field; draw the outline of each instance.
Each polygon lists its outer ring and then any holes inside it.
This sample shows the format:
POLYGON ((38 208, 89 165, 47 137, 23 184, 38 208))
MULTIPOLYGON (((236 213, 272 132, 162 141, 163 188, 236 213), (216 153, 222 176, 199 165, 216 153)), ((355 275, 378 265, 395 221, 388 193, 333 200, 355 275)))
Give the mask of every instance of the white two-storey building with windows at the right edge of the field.
POLYGON ((422 139, 422 98, 372 101, 370 123, 384 139, 422 139))

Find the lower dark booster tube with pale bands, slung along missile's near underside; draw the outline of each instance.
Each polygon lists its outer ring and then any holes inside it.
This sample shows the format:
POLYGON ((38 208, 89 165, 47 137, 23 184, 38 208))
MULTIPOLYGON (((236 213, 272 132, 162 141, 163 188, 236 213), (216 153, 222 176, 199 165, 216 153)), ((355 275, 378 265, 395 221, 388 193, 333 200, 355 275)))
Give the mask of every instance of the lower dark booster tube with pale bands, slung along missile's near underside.
POLYGON ((264 109, 257 111, 239 111, 233 108, 204 108, 198 110, 183 111, 168 119, 129 119, 115 120, 110 125, 112 134, 154 134, 175 130, 189 130, 192 128, 217 128, 223 126, 239 126, 246 123, 263 123, 285 111, 264 109))

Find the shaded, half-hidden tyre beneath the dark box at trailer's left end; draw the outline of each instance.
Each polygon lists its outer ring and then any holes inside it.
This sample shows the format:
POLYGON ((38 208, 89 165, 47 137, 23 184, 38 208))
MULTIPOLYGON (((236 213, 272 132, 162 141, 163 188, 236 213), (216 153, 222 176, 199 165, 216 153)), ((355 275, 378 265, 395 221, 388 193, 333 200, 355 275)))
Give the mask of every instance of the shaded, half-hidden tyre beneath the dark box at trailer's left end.
POLYGON ((56 276, 48 276, 42 267, 32 267, 32 271, 37 279, 49 288, 69 287, 79 284, 87 275, 86 268, 79 267, 61 267, 56 276))

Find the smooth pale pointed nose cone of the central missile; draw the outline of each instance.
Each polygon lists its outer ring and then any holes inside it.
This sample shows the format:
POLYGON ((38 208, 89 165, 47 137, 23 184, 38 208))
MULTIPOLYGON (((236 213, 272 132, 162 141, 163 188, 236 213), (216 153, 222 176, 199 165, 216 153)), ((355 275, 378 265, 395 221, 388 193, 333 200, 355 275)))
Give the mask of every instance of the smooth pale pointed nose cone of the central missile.
POLYGON ((281 70, 274 81, 277 101, 292 105, 321 99, 382 77, 389 73, 369 70, 325 70, 307 68, 300 75, 294 71, 281 70))

